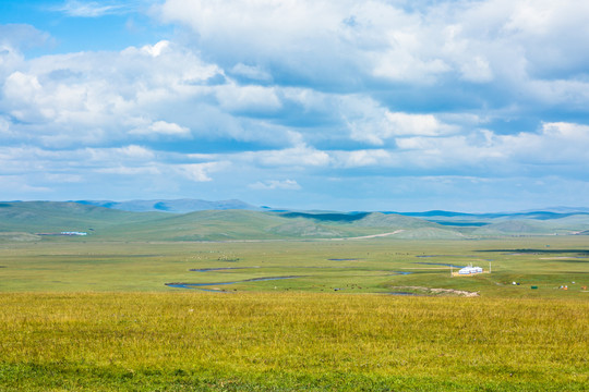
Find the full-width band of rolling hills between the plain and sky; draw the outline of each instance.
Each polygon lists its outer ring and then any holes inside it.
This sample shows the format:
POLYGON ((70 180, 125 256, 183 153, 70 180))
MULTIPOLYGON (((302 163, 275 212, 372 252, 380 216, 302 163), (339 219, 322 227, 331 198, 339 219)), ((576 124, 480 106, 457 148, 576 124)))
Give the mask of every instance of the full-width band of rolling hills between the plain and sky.
POLYGON ((428 219, 383 212, 252 209, 208 209, 188 213, 132 212, 86 203, 10 201, 0 203, 0 241, 36 241, 41 234, 65 231, 87 232, 89 235, 84 241, 271 241, 353 238, 382 234, 397 238, 458 240, 501 235, 565 235, 589 230, 587 212, 533 211, 491 216, 430 211, 424 215, 428 219), (441 219, 444 220, 440 222, 441 219))

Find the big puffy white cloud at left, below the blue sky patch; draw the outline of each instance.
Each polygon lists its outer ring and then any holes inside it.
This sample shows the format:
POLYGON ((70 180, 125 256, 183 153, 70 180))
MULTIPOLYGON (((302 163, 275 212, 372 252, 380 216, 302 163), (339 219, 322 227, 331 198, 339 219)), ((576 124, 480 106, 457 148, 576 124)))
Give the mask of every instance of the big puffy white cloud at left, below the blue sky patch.
POLYGON ((167 41, 121 52, 40 57, 1 81, 0 113, 17 120, 13 130, 29 143, 51 147, 148 133, 185 137, 189 128, 178 125, 171 108, 207 99, 213 91, 202 84, 218 73, 216 65, 167 41), (170 113, 165 123, 136 120, 170 113), (124 124, 129 127, 121 130, 124 124))

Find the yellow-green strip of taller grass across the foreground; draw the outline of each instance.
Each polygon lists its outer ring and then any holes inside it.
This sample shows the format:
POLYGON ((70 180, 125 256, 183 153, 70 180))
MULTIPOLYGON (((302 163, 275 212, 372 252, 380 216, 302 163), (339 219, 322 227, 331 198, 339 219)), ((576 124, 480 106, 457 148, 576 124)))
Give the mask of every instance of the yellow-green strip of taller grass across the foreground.
POLYGON ((582 299, 0 294, 2 391, 582 391, 582 299))

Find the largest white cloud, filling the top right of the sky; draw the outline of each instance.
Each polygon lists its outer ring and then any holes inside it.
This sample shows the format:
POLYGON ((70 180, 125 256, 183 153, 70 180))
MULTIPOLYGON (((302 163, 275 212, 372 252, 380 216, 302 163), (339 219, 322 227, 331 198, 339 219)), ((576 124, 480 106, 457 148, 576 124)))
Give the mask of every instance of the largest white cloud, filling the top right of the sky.
POLYGON ((493 82, 533 100, 534 81, 586 75, 589 61, 589 5, 578 0, 167 0, 155 10, 189 26, 204 51, 235 70, 344 89, 374 77, 431 88, 493 82))

